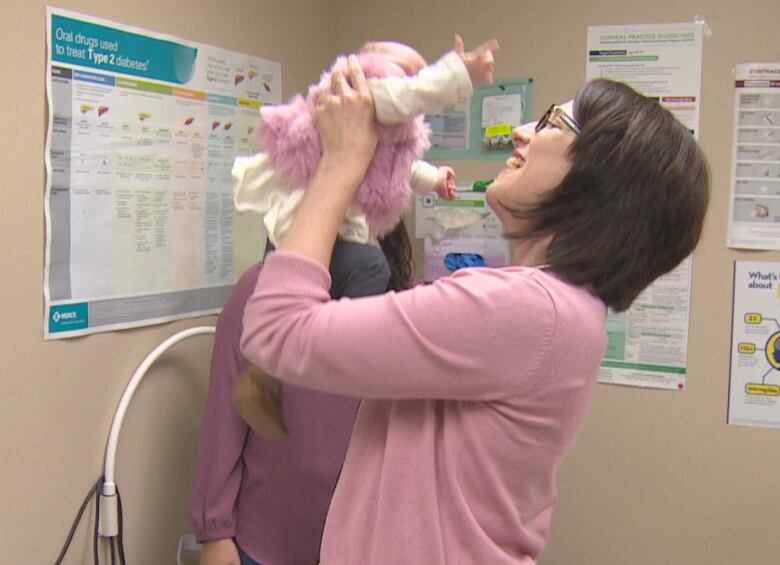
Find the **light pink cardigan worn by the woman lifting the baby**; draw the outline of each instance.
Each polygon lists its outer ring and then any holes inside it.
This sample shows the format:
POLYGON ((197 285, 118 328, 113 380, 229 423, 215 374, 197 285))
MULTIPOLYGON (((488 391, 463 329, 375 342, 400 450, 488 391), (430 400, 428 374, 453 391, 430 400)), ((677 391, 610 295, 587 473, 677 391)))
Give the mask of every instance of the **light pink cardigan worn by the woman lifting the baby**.
POLYGON ((606 347, 604 304, 523 267, 355 300, 330 301, 329 285, 305 257, 272 254, 241 340, 285 381, 364 399, 321 563, 535 563, 606 347))

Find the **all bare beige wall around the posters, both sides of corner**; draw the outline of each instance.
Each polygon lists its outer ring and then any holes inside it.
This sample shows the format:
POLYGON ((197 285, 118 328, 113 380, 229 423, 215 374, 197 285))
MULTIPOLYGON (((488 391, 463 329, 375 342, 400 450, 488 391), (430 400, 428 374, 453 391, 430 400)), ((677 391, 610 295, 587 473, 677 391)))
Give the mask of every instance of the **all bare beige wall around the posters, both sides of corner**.
MULTIPOLYGON (((176 330, 213 318, 44 343, 42 340, 45 3, 5 2, 0 89, 6 136, 0 237, 6 296, 0 325, 0 563, 49 563, 101 472, 115 405, 143 356, 176 330)), ((453 31, 472 45, 496 35, 499 76, 534 78, 534 109, 570 97, 585 73, 588 24, 707 19, 701 141, 713 203, 695 256, 688 389, 600 386, 560 477, 560 503, 543 565, 769 565, 780 514, 777 430, 725 424, 731 267, 776 253, 724 247, 732 75, 737 62, 778 61, 776 0, 620 3, 616 0, 273 0, 221 3, 66 1, 60 7, 282 62, 285 95, 318 75, 337 50, 365 39, 411 42, 430 59, 453 31), (412 18, 414 16, 414 18, 412 18)), ((461 178, 495 164, 455 163, 461 178)), ((419 250, 418 250, 419 251, 419 250)), ((419 254, 418 254, 419 256, 419 254)), ((174 562, 189 531, 187 498, 205 395, 210 338, 179 345, 150 372, 122 432, 117 481, 131 563, 174 562)), ((90 563, 89 536, 68 563, 90 563)), ((416 564, 415 564, 416 565, 416 564)))

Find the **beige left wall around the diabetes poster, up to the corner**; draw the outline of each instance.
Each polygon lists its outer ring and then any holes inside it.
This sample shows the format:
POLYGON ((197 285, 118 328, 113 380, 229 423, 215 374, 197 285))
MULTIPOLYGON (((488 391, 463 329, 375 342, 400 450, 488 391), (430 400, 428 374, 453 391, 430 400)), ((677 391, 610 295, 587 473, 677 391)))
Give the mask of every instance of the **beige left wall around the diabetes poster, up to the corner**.
MULTIPOLYGON (((277 60, 283 90, 304 88, 329 63, 331 2, 305 0, 62 1, 75 10, 277 60)), ((144 356, 177 330, 214 317, 65 341, 42 339, 45 6, 3 2, 0 141, 0 563, 53 563, 102 472, 111 418, 144 356)), ((116 478, 130 563, 175 563, 190 531, 188 498, 206 394, 211 338, 181 343, 147 374, 122 429, 116 478)), ((92 510, 88 514, 91 515, 92 510)), ((91 527, 91 522, 87 522, 91 527)), ((91 563, 82 524, 66 563, 91 563)), ((106 559, 104 562, 108 562, 106 559)))

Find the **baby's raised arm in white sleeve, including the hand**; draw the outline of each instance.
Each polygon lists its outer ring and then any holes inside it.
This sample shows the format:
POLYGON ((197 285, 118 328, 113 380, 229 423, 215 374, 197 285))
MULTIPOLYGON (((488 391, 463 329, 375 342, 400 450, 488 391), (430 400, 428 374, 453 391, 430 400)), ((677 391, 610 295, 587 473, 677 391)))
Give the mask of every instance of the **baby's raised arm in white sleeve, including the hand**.
POLYGON ((495 40, 464 52, 463 40, 455 36, 455 50, 412 77, 369 79, 377 121, 397 124, 419 114, 438 112, 471 96, 473 84, 493 79, 495 40))

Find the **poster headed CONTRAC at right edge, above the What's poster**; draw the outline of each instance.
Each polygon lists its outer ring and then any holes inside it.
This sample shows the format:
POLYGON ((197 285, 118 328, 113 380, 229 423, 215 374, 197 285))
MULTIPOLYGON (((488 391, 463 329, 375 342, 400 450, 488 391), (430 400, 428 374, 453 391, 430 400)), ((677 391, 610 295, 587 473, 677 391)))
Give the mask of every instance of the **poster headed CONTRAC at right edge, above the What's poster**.
POLYGON ((734 71, 728 246, 780 249, 780 63, 734 71))

